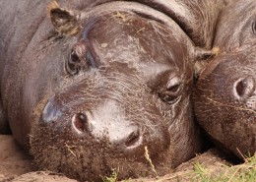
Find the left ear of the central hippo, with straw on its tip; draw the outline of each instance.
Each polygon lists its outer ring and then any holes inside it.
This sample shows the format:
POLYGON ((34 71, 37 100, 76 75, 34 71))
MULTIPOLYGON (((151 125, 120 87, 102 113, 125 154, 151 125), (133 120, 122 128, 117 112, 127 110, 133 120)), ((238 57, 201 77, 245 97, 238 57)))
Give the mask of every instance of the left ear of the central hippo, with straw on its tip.
POLYGON ((47 7, 50 20, 55 30, 64 35, 74 35, 79 31, 79 15, 73 11, 60 8, 56 1, 47 7))

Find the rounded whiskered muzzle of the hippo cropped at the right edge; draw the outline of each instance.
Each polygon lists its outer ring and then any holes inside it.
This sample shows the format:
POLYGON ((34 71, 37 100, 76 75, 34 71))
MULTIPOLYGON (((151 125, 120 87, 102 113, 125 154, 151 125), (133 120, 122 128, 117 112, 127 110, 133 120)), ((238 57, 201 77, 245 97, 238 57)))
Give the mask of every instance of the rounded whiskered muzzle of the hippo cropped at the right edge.
POLYGON ((256 152, 255 47, 220 56, 195 87, 195 112, 203 128, 225 149, 256 152))

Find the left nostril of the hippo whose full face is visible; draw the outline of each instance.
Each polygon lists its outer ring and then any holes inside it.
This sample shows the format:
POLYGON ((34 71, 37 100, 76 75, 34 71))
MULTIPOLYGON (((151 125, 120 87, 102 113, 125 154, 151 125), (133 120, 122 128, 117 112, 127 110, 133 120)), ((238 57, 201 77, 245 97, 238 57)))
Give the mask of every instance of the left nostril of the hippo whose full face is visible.
POLYGON ((72 118, 72 126, 78 134, 90 130, 88 118, 83 113, 77 113, 72 118))

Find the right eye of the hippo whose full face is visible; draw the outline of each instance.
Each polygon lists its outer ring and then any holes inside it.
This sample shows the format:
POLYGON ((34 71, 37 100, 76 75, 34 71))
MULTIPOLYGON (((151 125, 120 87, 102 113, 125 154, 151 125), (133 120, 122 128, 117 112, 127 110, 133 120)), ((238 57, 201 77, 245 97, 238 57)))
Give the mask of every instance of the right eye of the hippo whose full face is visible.
POLYGON ((166 89, 160 91, 160 99, 168 104, 177 102, 180 98, 181 87, 180 79, 172 78, 168 82, 166 89))

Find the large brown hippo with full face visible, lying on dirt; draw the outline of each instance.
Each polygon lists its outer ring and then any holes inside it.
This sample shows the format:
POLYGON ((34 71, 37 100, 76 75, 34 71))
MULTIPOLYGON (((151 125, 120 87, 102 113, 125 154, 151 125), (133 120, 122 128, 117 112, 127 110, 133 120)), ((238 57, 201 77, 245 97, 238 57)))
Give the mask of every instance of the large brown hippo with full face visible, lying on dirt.
POLYGON ((169 172, 201 152, 193 64, 213 54, 221 4, 1 1, 2 130, 70 178, 169 172))

